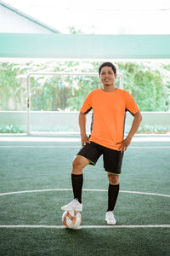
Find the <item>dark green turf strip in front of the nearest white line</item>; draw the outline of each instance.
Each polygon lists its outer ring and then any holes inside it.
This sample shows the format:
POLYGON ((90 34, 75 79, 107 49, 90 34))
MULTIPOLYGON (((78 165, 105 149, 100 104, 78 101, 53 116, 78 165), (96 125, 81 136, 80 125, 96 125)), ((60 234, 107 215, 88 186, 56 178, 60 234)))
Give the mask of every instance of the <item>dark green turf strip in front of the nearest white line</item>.
POLYGON ((1 230, 1 255, 169 255, 169 229, 1 230))

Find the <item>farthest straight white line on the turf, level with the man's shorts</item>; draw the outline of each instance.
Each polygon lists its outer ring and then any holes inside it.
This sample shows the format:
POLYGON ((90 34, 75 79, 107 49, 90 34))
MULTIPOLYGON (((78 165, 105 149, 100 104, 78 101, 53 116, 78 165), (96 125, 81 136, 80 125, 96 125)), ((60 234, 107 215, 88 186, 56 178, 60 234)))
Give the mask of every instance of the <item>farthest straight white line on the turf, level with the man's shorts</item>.
MULTIPOLYGON (((66 146, 31 146, 31 145, 28 145, 28 146, 14 146, 14 145, 8 145, 8 146, 0 146, 0 148, 81 148, 81 145, 79 146, 71 146, 71 145, 66 145, 66 146)), ((155 149, 155 148, 170 148, 170 146, 139 146, 139 147, 133 147, 133 146, 129 146, 128 148, 149 148, 149 149, 155 149)))

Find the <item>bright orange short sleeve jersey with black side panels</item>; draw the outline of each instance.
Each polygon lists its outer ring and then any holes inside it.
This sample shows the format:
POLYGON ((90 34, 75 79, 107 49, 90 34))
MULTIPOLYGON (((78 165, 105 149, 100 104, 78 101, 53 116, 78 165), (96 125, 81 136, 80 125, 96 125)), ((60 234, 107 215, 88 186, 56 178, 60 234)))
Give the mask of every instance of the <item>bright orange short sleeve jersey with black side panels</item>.
POLYGON ((132 114, 139 112, 133 96, 122 89, 112 92, 92 90, 80 111, 88 113, 91 109, 93 119, 89 141, 118 150, 120 145, 116 143, 123 140, 126 111, 132 114))

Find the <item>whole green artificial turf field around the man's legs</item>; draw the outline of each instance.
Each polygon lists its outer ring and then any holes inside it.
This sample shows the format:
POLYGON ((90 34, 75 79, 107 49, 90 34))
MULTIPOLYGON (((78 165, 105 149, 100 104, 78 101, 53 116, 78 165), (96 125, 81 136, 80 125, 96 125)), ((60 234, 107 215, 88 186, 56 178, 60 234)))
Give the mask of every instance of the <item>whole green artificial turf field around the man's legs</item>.
MULTIPOLYGON (((71 161, 79 143, 2 142, 1 193, 36 189, 71 189, 71 161), (11 146, 11 147, 10 147, 11 146), (37 146, 36 148, 13 148, 37 146), (43 146, 41 148, 39 146, 43 146), (56 148, 45 148, 56 146, 56 148)), ((169 143, 132 143, 132 147, 169 143)), ((170 148, 128 148, 116 202, 117 225, 170 224, 170 148), (124 191, 124 192, 123 192, 124 191)), ((108 188, 103 160, 84 170, 83 189, 108 188)), ((72 191, 41 191, 0 196, 0 225, 61 225, 60 207, 72 191)), ((107 191, 82 191, 82 225, 105 225, 107 191)), ((28 229, 0 228, 0 255, 169 255, 169 228, 28 229)))

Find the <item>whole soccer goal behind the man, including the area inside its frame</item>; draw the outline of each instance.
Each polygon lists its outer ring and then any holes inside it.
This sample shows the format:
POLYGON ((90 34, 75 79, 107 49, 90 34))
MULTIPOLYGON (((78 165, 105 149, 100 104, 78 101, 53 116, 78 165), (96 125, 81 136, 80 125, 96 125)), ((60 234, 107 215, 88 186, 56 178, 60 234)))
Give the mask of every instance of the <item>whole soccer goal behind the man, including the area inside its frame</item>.
MULTIPOLYGON (((27 134, 77 134, 82 102, 99 87, 98 73, 28 73, 27 134)), ((116 87, 123 89, 122 73, 117 74, 116 87)), ((90 114, 90 127, 88 122, 90 114)))

